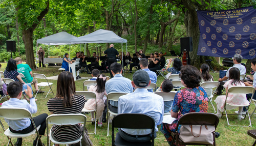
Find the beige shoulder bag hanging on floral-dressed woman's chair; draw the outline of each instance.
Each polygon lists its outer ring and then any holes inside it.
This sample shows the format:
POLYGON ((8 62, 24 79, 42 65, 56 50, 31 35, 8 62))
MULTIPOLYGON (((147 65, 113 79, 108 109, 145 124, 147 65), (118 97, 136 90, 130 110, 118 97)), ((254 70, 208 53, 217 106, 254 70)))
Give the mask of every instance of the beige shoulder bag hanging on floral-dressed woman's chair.
POLYGON ((180 139, 185 143, 202 143, 214 145, 215 126, 182 125, 180 139))

